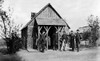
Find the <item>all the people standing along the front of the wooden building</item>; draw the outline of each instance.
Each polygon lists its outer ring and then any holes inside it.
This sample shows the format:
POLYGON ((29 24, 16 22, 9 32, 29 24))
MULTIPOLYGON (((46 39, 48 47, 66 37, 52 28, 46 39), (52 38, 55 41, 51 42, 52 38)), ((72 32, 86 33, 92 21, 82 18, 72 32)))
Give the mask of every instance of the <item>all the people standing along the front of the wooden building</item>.
POLYGON ((77 30, 76 33, 73 33, 73 31, 71 31, 70 34, 66 34, 66 32, 64 31, 61 36, 59 36, 59 34, 55 32, 52 35, 52 39, 50 39, 50 37, 46 35, 45 32, 42 32, 37 42, 37 48, 39 51, 44 52, 46 49, 48 49, 48 46, 51 45, 50 40, 52 40, 53 50, 65 51, 66 45, 69 45, 69 47, 72 48, 72 51, 77 49, 77 51, 79 52, 80 39, 81 37, 79 34, 79 30, 77 30))

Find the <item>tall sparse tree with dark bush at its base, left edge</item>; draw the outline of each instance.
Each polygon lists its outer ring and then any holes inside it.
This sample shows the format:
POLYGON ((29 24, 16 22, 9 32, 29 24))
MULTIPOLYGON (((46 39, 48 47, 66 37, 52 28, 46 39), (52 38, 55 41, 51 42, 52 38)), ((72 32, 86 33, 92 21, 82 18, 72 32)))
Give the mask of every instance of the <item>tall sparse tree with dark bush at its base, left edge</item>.
POLYGON ((6 41, 8 53, 15 53, 21 45, 21 38, 18 36, 22 25, 15 25, 12 19, 12 10, 8 12, 0 9, 1 37, 6 41))

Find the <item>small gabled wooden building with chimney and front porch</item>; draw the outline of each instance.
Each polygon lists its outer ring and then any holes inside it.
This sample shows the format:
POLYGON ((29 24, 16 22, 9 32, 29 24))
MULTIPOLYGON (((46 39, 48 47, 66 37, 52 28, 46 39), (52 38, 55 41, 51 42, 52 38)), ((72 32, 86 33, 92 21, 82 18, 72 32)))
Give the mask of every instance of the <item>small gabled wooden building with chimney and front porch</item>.
POLYGON ((49 3, 38 13, 31 13, 31 20, 21 30, 23 45, 26 49, 36 48, 36 39, 43 30, 51 38, 54 32, 61 32, 65 27, 70 28, 49 3))

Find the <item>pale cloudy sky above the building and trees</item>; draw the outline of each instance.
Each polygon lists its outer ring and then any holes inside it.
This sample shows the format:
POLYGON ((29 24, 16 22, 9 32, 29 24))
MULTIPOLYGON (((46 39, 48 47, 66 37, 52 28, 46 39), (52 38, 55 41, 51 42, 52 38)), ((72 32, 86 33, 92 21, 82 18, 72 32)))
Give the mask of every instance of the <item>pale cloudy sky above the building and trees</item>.
POLYGON ((3 7, 13 8, 13 18, 23 26, 30 21, 31 12, 39 12, 51 3, 54 9, 66 20, 71 30, 87 25, 92 14, 100 18, 100 0, 5 0, 3 7))

